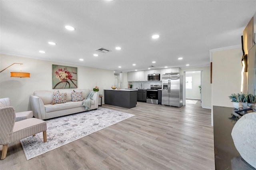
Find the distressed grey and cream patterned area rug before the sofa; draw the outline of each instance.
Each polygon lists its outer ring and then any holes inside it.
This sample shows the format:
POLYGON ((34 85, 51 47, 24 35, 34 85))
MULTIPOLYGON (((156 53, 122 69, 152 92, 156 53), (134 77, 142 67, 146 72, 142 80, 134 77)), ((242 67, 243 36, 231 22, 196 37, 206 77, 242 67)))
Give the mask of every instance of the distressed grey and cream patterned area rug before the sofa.
POLYGON ((20 140, 27 160, 114 125, 134 115, 106 108, 46 120, 47 142, 43 133, 20 140))

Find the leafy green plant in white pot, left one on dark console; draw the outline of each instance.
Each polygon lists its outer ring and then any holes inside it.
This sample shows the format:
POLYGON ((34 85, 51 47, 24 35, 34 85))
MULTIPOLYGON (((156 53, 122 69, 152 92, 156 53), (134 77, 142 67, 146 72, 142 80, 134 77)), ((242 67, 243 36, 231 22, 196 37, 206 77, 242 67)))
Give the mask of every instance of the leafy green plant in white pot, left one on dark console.
POLYGON ((247 107, 247 95, 244 93, 232 93, 230 96, 228 96, 229 99, 231 99, 231 102, 233 102, 234 108, 238 109, 240 108, 246 108, 247 107), (240 105, 240 106, 239 106, 240 105))

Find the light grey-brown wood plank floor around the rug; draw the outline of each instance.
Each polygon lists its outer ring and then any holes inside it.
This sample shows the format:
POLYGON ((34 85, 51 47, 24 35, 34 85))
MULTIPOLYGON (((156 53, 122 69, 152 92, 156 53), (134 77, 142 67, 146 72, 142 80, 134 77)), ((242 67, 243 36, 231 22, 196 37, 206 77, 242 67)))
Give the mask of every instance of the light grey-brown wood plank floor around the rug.
POLYGON ((20 142, 12 143, 0 169, 214 170, 211 112, 200 101, 186 104, 102 105, 135 116, 28 161, 20 142))

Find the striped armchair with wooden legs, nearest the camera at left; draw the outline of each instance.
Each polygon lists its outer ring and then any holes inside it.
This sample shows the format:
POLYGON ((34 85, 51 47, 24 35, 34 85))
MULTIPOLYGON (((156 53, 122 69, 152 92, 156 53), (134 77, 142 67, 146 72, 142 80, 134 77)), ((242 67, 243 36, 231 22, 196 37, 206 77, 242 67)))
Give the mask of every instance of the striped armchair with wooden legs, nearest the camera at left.
POLYGON ((46 122, 30 118, 15 122, 15 110, 11 106, 0 106, 0 145, 3 145, 1 160, 6 158, 8 144, 28 136, 43 132, 46 142, 46 122))

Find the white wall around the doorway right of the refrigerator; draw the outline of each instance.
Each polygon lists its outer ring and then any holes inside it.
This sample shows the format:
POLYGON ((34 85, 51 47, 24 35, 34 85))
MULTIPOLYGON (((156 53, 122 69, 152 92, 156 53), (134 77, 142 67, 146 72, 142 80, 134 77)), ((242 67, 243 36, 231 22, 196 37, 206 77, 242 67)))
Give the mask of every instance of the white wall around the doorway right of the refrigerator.
POLYGON ((182 68, 180 73, 183 75, 184 71, 202 71, 202 108, 212 108, 212 84, 210 83, 210 67, 195 67, 195 68, 182 68))

